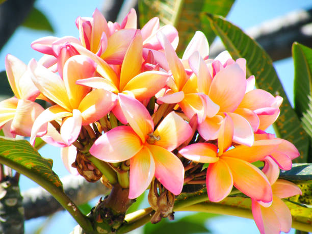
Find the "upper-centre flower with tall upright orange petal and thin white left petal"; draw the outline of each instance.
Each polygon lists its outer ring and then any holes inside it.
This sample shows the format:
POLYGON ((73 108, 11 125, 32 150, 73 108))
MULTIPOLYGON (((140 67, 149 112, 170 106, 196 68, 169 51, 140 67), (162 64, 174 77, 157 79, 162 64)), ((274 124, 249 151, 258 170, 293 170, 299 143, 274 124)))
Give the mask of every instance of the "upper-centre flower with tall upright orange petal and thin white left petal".
MULTIPOLYGON (((97 61, 97 69, 103 77, 90 77, 78 80, 76 84, 89 86, 97 89, 109 90, 115 94, 125 93, 133 95, 138 100, 148 99, 159 92, 168 80, 168 74, 162 71, 142 70, 142 34, 137 32, 132 43, 126 51, 120 71, 116 72, 104 61, 92 54, 87 54, 87 50, 80 50, 85 55, 91 56, 97 61), (100 68, 99 68, 100 67, 100 68), (100 70, 99 70, 100 69, 100 70), (120 78, 119 78, 120 77, 120 78)), ((112 110, 115 116, 123 123, 127 121, 120 109, 119 103, 112 110)))

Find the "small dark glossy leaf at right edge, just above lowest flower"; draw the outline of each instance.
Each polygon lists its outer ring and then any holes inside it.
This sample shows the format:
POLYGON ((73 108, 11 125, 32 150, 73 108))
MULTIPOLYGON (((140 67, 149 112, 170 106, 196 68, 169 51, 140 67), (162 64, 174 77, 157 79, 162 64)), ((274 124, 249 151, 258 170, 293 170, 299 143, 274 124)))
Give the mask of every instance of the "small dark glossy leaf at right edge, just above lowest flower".
POLYGON ((294 163, 291 170, 281 171, 279 178, 287 179, 294 183, 312 180, 312 164, 294 163))

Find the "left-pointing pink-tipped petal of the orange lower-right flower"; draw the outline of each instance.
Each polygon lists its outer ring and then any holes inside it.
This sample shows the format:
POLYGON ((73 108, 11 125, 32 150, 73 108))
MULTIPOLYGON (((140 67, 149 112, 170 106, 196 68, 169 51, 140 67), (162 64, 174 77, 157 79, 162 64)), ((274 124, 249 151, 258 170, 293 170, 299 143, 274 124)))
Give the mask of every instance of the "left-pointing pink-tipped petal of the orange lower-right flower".
POLYGON ((179 150, 184 158, 198 163, 215 163, 217 157, 217 146, 210 143, 195 143, 179 150))

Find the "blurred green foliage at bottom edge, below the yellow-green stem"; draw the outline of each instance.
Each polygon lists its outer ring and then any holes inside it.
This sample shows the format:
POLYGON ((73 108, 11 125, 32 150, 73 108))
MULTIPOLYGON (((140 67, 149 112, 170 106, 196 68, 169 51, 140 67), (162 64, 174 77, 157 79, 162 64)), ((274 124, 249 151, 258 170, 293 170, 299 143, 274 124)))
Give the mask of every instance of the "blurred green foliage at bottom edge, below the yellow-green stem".
POLYGON ((196 213, 188 215, 178 221, 172 222, 168 219, 162 219, 159 224, 148 223, 144 226, 143 233, 145 234, 158 234, 158 233, 170 233, 170 234, 193 234, 201 232, 210 232, 204 225, 207 219, 216 217, 218 215, 209 213, 196 213))

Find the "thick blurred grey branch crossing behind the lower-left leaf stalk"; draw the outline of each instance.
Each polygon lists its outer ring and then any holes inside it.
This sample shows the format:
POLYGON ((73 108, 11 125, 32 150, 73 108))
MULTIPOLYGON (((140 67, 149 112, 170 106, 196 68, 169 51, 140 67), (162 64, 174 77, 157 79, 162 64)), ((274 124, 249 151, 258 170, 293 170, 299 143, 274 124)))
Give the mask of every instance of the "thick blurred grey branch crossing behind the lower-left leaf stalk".
MULTIPOLYGON (((106 195, 110 190, 100 181, 88 183, 81 176, 66 176, 62 178, 65 193, 76 204, 84 204, 99 195, 106 195)), ((25 220, 47 216, 64 210, 60 203, 41 187, 32 188, 22 193, 25 220)))

